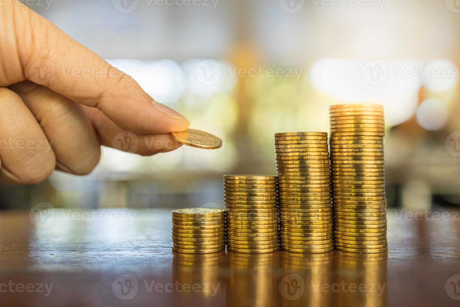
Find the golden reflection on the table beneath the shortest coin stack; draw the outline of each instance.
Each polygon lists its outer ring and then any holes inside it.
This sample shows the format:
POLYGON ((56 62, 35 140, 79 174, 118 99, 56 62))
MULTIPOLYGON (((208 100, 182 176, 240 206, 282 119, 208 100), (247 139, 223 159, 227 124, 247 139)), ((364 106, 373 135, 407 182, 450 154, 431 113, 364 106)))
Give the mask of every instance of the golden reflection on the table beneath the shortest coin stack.
POLYGON ((172 266, 171 283, 175 287, 172 306, 190 306, 190 301, 200 301, 201 306, 223 305, 225 278, 222 276, 221 268, 225 266, 225 252, 213 254, 173 252, 172 266))

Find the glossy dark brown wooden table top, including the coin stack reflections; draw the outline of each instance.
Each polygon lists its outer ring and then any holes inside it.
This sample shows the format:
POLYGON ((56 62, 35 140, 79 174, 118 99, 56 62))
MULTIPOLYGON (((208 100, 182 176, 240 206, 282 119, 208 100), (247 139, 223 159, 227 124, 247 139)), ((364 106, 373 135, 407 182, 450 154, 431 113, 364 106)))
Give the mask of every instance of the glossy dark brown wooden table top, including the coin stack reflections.
POLYGON ((460 306, 455 214, 389 209, 388 254, 182 255, 170 210, 51 212, 0 212, 1 306, 460 306))

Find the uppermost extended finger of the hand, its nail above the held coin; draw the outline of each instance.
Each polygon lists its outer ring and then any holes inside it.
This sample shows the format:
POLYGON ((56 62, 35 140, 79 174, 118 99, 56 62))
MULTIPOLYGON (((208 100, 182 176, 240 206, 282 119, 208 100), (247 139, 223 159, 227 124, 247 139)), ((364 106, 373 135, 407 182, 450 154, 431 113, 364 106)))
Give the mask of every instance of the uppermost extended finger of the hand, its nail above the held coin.
MULTIPOLYGON (((189 121, 151 98, 129 75, 74 41, 54 24, 16 2, 1 6, 1 49, 15 48, 20 65, 8 70, 14 83, 30 80, 86 106, 101 110, 124 130, 138 134, 184 131, 189 121), (14 37, 8 34, 15 33, 14 37), (1 31, 4 32, 4 31, 1 31), (5 40, 3 40, 6 36, 5 40), (13 46, 11 46, 13 45, 13 46), (23 79, 23 80, 18 80, 23 79)), ((4 53, 5 54, 5 53, 4 53)), ((8 53, 6 53, 8 54, 8 53)))

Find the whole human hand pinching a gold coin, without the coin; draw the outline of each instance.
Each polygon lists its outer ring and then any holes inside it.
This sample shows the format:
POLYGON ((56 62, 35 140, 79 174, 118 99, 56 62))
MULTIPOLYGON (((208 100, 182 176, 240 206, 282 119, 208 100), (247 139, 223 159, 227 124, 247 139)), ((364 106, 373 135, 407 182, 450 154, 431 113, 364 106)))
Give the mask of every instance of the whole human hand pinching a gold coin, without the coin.
POLYGON ((88 174, 100 145, 133 151, 125 139, 140 155, 180 146, 169 133, 187 129, 184 116, 19 1, 0 2, 0 181, 88 174))

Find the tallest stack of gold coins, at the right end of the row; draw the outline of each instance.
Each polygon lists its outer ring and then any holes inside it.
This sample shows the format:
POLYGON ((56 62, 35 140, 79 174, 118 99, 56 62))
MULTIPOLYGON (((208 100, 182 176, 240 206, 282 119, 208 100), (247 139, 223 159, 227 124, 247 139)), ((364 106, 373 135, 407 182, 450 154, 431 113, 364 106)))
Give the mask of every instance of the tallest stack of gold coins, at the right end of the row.
POLYGON ((384 144, 380 104, 329 107, 335 249, 387 250, 384 144))

